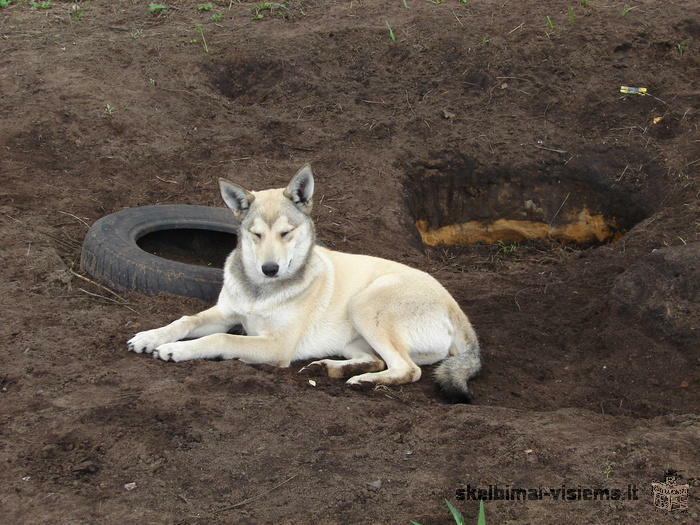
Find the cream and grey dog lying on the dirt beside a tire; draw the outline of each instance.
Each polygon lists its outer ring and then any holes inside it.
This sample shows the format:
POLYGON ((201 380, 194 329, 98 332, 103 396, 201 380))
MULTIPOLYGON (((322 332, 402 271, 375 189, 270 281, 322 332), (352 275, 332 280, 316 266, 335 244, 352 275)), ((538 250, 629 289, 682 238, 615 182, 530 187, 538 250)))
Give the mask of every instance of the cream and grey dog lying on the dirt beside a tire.
POLYGON ((249 192, 226 179, 219 187, 239 235, 216 305, 137 333, 130 350, 279 367, 318 359, 300 372, 356 386, 418 381, 421 365, 441 362, 434 377, 443 393, 470 400, 481 355, 467 316, 423 271, 317 245, 308 164, 286 188, 249 192), (227 333, 239 324, 247 335, 227 333))

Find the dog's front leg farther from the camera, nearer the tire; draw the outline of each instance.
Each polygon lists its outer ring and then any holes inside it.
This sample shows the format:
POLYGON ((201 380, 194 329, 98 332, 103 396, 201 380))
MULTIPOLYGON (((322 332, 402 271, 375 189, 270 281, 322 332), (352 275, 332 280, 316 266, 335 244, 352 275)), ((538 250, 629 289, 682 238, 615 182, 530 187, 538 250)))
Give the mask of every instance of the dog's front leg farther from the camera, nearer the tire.
POLYGON ((139 332, 132 337, 127 345, 129 350, 140 354, 151 353, 160 345, 172 343, 187 337, 203 337, 205 335, 226 332, 237 323, 238 319, 224 315, 221 308, 213 306, 196 315, 186 315, 169 325, 153 330, 139 332))

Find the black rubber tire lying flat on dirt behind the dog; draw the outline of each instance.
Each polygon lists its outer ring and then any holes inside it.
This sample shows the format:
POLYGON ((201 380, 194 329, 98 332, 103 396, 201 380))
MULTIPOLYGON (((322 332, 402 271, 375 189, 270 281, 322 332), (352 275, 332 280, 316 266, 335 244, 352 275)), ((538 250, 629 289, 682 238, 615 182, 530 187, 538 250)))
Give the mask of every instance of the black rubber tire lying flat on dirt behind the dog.
POLYGON ((160 230, 196 229, 237 234, 231 210, 161 205, 127 208, 102 217, 88 230, 82 269, 106 285, 146 294, 168 292, 216 301, 223 282, 219 268, 171 261, 142 250, 136 241, 160 230))

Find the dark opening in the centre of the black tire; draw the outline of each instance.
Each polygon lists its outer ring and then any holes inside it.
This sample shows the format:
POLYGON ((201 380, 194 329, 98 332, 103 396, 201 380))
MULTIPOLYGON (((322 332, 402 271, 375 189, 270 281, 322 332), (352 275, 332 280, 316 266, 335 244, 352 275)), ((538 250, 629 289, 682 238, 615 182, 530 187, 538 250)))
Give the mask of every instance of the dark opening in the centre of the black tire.
POLYGON ((164 259, 223 268, 226 257, 236 247, 236 236, 213 230, 160 230, 144 235, 136 244, 164 259))

